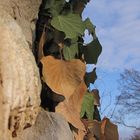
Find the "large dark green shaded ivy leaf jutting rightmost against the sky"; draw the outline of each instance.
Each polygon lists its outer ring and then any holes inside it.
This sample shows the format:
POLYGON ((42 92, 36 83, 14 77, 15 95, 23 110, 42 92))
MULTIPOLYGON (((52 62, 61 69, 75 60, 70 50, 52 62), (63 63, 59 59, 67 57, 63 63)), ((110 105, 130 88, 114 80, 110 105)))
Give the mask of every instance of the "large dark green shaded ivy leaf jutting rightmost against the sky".
POLYGON ((96 64, 99 55, 102 52, 102 46, 98 38, 94 39, 87 46, 83 47, 84 59, 87 64, 96 64))

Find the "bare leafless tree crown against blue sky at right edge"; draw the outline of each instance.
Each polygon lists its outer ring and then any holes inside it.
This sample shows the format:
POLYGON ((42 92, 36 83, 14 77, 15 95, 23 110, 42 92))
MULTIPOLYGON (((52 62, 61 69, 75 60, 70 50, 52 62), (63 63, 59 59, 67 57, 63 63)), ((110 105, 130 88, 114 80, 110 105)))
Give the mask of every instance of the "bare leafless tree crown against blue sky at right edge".
MULTIPOLYGON (((124 70, 119 80, 121 94, 116 98, 116 106, 119 105, 124 112, 140 114, 140 72, 134 69, 124 70)), ((116 107, 114 108, 114 110, 116 107)), ((112 113, 112 116, 114 111, 112 113)), ((112 117, 111 116, 111 117, 112 117)))

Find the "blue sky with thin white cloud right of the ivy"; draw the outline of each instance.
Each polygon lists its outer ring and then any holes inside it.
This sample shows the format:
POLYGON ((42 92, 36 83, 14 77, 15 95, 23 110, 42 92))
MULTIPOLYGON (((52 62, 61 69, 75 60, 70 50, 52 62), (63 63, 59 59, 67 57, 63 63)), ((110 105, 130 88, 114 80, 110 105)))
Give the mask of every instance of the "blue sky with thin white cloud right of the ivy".
MULTIPOLYGON (((104 112, 110 116, 114 108, 114 99, 119 95, 119 74, 125 68, 140 70, 140 0, 91 0, 83 17, 90 17, 96 25, 97 36, 103 46, 97 64, 98 80, 102 108, 110 103, 104 112)), ((121 137, 132 130, 119 127, 121 137), (124 130, 125 129, 125 130, 124 130)))

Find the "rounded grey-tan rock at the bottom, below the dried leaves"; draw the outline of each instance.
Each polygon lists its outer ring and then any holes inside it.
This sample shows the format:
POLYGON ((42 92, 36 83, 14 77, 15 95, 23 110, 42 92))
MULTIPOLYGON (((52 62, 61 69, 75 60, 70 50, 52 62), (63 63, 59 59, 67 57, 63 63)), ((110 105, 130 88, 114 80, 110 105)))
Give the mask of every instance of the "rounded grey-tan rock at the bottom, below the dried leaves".
POLYGON ((14 140, 74 140, 66 120, 57 113, 42 110, 36 123, 14 140))

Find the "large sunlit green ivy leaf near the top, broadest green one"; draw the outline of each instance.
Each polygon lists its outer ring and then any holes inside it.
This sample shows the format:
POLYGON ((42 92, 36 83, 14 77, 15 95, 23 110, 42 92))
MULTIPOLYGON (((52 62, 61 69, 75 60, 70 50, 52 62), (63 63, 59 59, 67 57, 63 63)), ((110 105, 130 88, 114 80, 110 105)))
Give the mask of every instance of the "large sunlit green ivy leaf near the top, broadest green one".
POLYGON ((83 35, 85 26, 78 14, 68 14, 56 16, 52 19, 51 25, 59 31, 65 33, 65 38, 76 38, 83 35))

